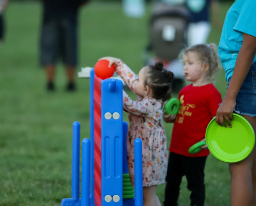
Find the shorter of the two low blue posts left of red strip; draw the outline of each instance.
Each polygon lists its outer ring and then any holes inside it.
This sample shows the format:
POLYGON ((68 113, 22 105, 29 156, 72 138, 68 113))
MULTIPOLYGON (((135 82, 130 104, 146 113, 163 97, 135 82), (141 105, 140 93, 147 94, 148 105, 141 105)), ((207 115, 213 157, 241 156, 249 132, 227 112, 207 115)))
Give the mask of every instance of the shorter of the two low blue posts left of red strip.
POLYGON ((82 149, 82 188, 81 188, 81 206, 89 206, 90 201, 90 141, 83 140, 82 149))

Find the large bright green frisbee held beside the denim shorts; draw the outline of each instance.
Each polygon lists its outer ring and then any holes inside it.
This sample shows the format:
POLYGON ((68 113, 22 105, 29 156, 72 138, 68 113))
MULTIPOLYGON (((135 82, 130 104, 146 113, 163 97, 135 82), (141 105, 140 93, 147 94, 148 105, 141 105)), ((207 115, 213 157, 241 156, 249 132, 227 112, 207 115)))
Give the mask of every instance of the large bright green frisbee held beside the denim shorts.
POLYGON ((233 113, 233 117, 232 128, 220 127, 213 118, 205 134, 210 152, 219 160, 229 163, 247 158, 255 144, 254 131, 249 122, 238 114, 233 113))

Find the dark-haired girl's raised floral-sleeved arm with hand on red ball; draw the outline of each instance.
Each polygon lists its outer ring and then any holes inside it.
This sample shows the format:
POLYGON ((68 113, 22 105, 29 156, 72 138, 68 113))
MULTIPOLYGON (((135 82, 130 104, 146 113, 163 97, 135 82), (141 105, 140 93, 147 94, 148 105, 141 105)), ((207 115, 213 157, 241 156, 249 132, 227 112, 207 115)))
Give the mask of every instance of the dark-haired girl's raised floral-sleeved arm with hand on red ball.
POLYGON ((132 92, 134 92, 134 86, 138 78, 122 60, 114 57, 103 57, 99 60, 108 60, 109 67, 114 64, 116 73, 122 77, 127 86, 131 89, 132 92))

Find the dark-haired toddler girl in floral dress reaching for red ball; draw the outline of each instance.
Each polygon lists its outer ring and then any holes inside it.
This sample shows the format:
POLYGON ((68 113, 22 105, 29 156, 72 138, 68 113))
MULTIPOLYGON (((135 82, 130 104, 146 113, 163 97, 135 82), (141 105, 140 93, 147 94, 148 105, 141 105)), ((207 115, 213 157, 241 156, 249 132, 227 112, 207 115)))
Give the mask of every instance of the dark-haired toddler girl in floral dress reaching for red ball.
POLYGON ((127 136, 127 158, 131 183, 134 186, 134 140, 142 140, 143 161, 143 205, 160 206, 156 195, 158 184, 164 184, 167 173, 168 150, 162 124, 163 105, 171 97, 173 73, 164 70, 162 63, 141 69, 139 77, 119 59, 104 57, 109 66, 123 78, 132 92, 137 94, 133 101, 123 91, 124 111, 129 113, 130 126, 127 136))

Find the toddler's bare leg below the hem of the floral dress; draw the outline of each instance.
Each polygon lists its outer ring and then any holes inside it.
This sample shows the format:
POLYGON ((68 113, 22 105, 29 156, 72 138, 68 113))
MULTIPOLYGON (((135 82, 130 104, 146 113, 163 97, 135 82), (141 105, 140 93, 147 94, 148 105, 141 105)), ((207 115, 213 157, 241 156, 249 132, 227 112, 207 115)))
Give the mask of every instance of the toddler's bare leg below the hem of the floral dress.
POLYGON ((143 187, 143 206, 161 206, 156 190, 157 185, 143 187))

